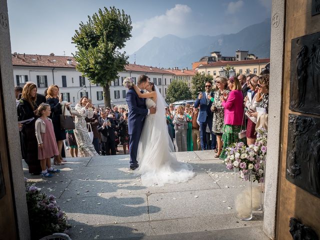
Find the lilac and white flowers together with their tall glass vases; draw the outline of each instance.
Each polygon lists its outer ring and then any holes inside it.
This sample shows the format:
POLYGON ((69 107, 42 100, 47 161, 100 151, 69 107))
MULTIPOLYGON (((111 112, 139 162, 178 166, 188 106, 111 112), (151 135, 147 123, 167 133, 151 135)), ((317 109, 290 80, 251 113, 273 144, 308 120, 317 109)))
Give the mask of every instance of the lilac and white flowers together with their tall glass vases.
POLYGON ((235 211, 240 219, 251 218, 252 209, 262 209, 266 139, 266 130, 259 129, 254 144, 247 147, 243 142, 238 142, 226 148, 226 168, 234 169, 234 183, 240 187, 235 199, 235 211), (257 182, 253 191, 252 181, 257 182))

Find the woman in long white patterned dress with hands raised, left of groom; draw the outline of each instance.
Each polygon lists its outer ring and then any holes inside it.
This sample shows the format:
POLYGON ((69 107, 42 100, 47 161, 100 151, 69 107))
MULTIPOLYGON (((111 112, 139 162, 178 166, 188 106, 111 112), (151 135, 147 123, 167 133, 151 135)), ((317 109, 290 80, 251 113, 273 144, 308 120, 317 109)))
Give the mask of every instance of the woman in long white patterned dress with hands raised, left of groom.
POLYGON ((78 145, 80 156, 98 156, 95 151, 92 141, 87 133, 85 117, 93 116, 92 104, 86 96, 80 98, 80 102, 75 105, 75 110, 81 116, 75 116, 74 136, 78 145), (89 107, 91 109, 89 109, 89 107))

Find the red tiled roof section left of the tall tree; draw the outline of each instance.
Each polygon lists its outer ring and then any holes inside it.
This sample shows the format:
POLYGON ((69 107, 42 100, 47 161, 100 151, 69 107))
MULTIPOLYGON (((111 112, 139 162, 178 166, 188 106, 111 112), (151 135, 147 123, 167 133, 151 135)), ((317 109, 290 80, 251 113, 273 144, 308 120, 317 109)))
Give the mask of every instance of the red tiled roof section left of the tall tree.
POLYGON ((12 54, 13 66, 65 67, 75 68, 76 61, 72 56, 51 56, 33 54, 12 54), (67 64, 71 59, 71 64, 67 64))

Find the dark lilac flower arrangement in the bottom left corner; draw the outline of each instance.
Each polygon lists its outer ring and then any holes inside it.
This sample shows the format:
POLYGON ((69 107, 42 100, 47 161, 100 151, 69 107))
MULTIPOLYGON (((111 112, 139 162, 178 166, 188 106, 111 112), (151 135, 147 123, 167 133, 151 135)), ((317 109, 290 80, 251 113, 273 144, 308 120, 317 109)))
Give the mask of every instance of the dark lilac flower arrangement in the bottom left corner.
POLYGON ((67 216, 56 204, 53 195, 41 193, 41 188, 25 182, 26 203, 28 208, 31 239, 40 239, 55 232, 64 232, 71 227, 67 216))

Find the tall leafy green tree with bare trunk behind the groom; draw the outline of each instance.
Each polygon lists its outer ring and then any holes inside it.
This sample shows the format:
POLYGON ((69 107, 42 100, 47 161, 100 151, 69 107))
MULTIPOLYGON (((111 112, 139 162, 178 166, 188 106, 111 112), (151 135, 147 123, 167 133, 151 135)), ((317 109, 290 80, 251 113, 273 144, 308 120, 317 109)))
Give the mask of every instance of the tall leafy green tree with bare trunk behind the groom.
POLYGON ((88 16, 88 21, 81 21, 75 30, 72 43, 77 51, 73 54, 78 62, 76 69, 89 78, 92 83, 99 83, 103 88, 104 105, 111 106, 111 81, 118 79, 118 72, 128 64, 125 51, 119 50, 131 37, 131 18, 124 11, 104 7, 88 16))

